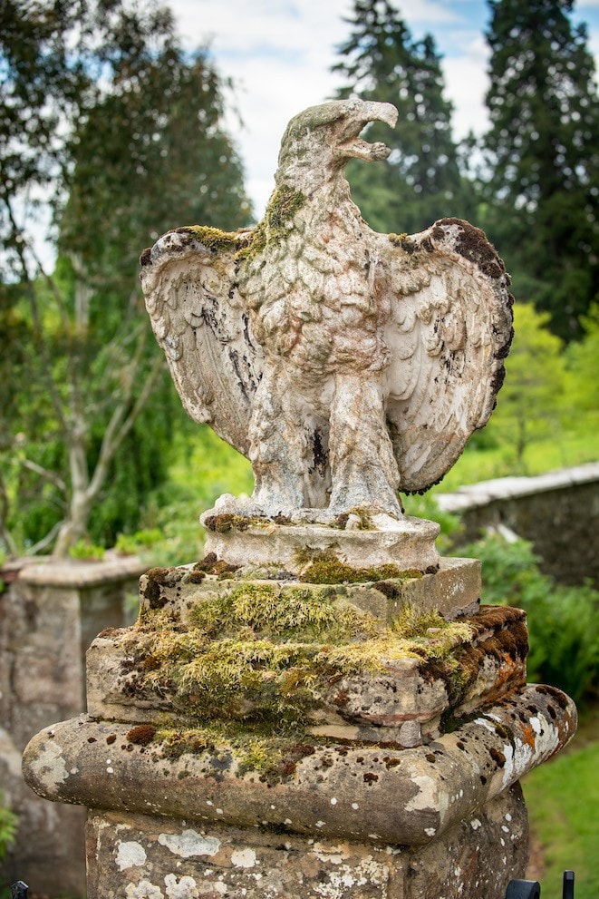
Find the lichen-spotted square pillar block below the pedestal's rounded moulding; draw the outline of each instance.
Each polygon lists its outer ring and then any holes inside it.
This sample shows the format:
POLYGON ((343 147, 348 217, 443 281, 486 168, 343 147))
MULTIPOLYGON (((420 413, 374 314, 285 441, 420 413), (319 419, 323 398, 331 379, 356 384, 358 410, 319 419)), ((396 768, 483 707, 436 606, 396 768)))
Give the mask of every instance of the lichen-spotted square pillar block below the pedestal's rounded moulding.
POLYGON ((422 849, 92 810, 89 899, 504 899, 527 862, 517 786, 422 849))

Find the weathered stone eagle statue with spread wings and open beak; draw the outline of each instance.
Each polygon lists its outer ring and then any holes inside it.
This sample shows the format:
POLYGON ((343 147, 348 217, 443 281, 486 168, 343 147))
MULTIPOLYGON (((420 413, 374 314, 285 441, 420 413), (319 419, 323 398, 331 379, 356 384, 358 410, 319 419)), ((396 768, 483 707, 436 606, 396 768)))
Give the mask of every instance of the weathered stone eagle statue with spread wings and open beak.
POLYGON ((227 512, 400 518, 398 490, 440 481, 495 406, 512 298, 484 233, 379 234, 351 199, 347 161, 390 153, 360 132, 396 119, 357 99, 296 115, 254 229, 177 228, 141 256, 183 406, 251 461, 227 512))

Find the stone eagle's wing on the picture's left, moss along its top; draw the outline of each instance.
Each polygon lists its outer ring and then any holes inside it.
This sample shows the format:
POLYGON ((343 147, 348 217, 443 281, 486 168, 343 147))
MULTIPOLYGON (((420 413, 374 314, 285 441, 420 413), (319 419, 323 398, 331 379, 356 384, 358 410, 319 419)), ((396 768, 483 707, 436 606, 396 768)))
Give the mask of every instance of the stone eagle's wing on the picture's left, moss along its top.
POLYGON ((146 308, 185 410, 244 455, 263 367, 237 288, 247 241, 243 231, 179 228, 140 258, 146 308))

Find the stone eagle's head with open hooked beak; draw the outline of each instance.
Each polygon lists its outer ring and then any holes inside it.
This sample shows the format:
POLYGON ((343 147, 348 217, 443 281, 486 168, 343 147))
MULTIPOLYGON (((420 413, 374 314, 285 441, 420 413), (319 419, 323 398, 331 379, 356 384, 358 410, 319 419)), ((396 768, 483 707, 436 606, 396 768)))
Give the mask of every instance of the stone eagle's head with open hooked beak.
POLYGON ((385 160, 391 153, 384 143, 362 140, 360 132, 370 122, 385 122, 391 128, 398 112, 391 103, 352 98, 311 106, 287 125, 275 181, 314 190, 315 178, 334 176, 350 159, 385 160), (308 183, 306 183, 308 181, 308 183))

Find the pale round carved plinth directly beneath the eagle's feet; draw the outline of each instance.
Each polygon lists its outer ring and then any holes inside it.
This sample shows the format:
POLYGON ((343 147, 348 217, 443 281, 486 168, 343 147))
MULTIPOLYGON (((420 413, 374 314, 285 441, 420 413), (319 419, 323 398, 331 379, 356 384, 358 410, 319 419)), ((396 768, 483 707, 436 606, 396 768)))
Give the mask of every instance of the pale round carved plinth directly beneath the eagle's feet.
POLYGON ((306 552, 328 552, 353 568, 397 565, 402 571, 436 571, 435 540, 440 526, 420 518, 400 521, 376 516, 365 529, 318 524, 276 524, 223 513, 202 515, 207 528, 206 552, 233 565, 278 565, 298 573, 306 552))

